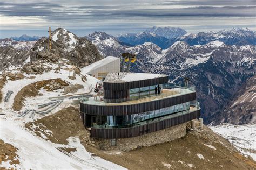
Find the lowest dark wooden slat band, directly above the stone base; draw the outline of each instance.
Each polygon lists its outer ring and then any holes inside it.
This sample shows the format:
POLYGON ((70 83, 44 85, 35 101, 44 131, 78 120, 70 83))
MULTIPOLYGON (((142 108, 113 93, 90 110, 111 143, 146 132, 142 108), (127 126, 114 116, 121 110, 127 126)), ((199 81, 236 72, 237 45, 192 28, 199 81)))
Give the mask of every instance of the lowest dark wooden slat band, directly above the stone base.
POLYGON ((200 116, 200 110, 190 112, 189 114, 166 119, 163 121, 145 124, 142 126, 134 126, 132 128, 120 128, 120 129, 100 129, 91 128, 92 138, 104 138, 104 139, 117 139, 117 138, 132 138, 141 136, 143 134, 156 132, 158 130, 170 128, 181 123, 191 121, 192 119, 200 116))

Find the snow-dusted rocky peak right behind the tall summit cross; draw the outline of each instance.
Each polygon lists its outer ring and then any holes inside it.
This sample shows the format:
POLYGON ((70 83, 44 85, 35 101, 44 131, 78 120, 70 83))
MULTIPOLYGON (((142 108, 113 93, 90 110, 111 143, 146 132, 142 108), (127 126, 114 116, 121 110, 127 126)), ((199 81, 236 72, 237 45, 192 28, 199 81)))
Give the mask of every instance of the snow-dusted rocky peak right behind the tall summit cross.
POLYGON ((48 49, 48 38, 41 38, 30 51, 31 60, 46 59, 57 62, 59 58, 69 59, 73 65, 85 67, 102 59, 95 45, 85 37, 56 29, 52 32, 52 49, 48 49))

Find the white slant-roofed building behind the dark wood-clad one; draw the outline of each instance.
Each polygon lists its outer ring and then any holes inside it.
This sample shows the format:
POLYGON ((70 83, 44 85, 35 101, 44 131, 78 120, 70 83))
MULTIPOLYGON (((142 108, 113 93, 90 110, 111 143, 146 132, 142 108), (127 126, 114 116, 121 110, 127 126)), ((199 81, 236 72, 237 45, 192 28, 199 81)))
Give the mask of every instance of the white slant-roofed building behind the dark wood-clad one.
POLYGON ((120 58, 107 56, 89 66, 82 68, 82 74, 89 74, 98 79, 104 79, 107 73, 120 72, 120 58))

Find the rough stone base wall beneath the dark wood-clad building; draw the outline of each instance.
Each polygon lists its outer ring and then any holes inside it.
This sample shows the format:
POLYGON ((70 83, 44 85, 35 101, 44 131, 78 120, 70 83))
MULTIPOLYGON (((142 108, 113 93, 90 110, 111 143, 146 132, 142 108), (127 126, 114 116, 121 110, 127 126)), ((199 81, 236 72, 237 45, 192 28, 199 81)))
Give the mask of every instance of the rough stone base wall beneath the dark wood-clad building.
POLYGON ((142 146, 152 146, 156 144, 172 141, 186 135, 186 123, 173 126, 171 128, 159 130, 149 134, 134 138, 116 139, 116 146, 111 146, 110 139, 99 139, 101 150, 121 150, 131 151, 142 146))

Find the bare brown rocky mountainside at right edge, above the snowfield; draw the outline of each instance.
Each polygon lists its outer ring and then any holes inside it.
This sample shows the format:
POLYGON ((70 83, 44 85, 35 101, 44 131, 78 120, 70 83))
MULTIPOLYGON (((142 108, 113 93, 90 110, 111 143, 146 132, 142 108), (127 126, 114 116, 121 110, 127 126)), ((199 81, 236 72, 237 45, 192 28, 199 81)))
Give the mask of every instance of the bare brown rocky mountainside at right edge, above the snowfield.
POLYGON ((254 75, 235 93, 230 102, 218 113, 213 125, 220 123, 256 123, 256 76, 254 75))

